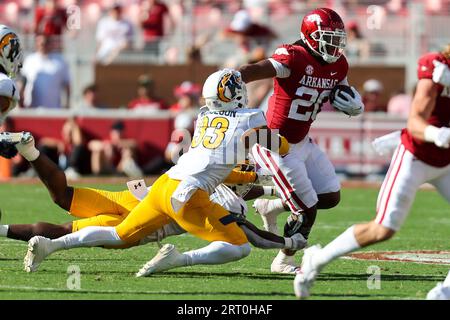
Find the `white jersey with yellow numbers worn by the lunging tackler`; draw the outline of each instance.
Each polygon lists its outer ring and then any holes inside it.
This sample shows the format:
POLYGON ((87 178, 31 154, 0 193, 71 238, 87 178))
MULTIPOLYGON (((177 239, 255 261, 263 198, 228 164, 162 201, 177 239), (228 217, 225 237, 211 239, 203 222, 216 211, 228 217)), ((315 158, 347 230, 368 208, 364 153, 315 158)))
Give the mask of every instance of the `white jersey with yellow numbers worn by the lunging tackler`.
POLYGON ((204 107, 197 117, 188 152, 167 174, 212 194, 235 165, 245 160, 242 134, 265 125, 264 113, 258 109, 209 111, 204 107))

